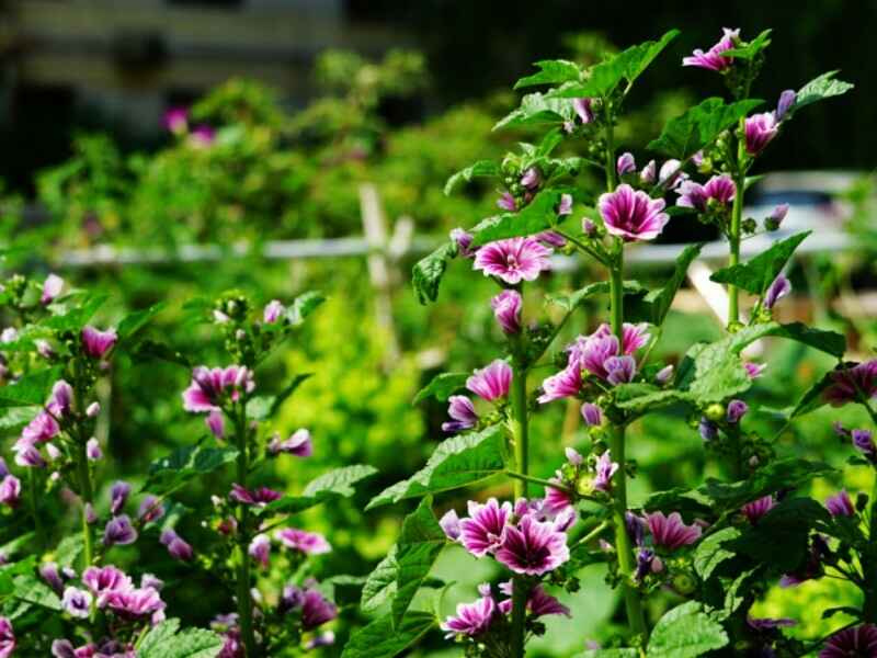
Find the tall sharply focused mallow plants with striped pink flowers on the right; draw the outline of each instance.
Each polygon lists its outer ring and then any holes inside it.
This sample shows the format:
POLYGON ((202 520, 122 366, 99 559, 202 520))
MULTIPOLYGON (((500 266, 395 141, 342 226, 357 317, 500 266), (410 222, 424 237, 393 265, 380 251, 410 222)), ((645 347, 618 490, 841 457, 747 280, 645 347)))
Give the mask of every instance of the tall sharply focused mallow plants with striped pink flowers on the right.
MULTIPOLYGON (((454 230, 418 262, 415 292, 422 303, 434 300, 452 265, 489 277, 496 296, 483 304, 504 341, 478 355, 483 365, 474 373, 441 374, 419 394, 417 401, 447 402, 446 438, 421 470, 369 503, 420 501, 364 586, 362 608, 375 616, 353 635, 345 656, 391 656, 435 626, 467 656, 524 656, 527 642, 545 632, 547 615, 570 615, 556 597, 559 590, 589 595, 576 575, 594 563, 605 565, 607 582, 619 590, 626 629, 605 647, 582 645, 582 655, 877 656, 877 491, 839 491, 827 501, 807 497, 809 480, 833 469, 784 455, 776 436, 759 435, 747 418, 759 408, 749 392, 770 361, 750 361, 745 350, 772 338, 797 341, 838 362, 794 408, 774 410, 781 433, 825 404, 862 405, 874 419, 877 361, 846 362, 843 336, 774 319, 791 292, 784 269, 808 234, 761 238, 754 243, 765 245, 762 252, 741 256, 749 238, 776 235, 788 209, 744 216, 761 156, 794 131, 799 112, 852 84, 832 71, 772 100, 751 98, 771 32, 748 39, 739 30, 725 30, 716 45, 681 63, 699 69, 705 83, 724 87, 725 94, 672 118, 647 154, 629 152, 614 127, 637 79, 676 34, 586 69, 538 61, 538 70, 515 89, 543 89, 524 95, 496 128, 542 126, 542 139, 448 180, 447 193, 475 178, 494 181, 499 213, 454 230), (578 155, 556 156, 561 145, 578 155), (596 192, 589 184, 594 177, 602 181, 596 192), (691 345, 677 363, 657 361, 653 348, 702 245, 682 249, 658 288, 629 280, 625 268, 629 250, 658 238, 670 222, 713 225, 728 245, 727 265, 713 275, 727 286, 726 333, 691 345), (558 256, 596 263, 604 276, 565 295, 546 295, 539 283, 558 256), (577 310, 591 299, 603 300, 607 315, 576 326, 577 310), (546 306, 555 307, 551 314, 546 306), (578 338, 556 340, 565 327, 578 338), (547 377, 540 374, 545 368, 553 371, 547 377), (534 415, 558 400, 580 408, 589 439, 583 444, 553 444, 560 431, 531 435, 534 415), (691 431, 703 436, 722 477, 653 492, 634 504, 627 429, 665 407, 688 413, 691 431), (531 474, 534 440, 553 446, 554 477, 531 474), (502 478, 511 485, 505 498, 499 496, 502 478), (441 518, 433 512, 435 497, 480 483, 492 486, 491 497, 476 496, 466 509, 441 518), (496 563, 502 576, 479 586, 471 602, 447 611, 430 571, 454 544, 496 563), (793 639, 783 628, 795 620, 752 613, 768 588, 818 578, 846 580, 863 594, 861 608, 824 611, 848 620, 831 636, 793 639), (422 610, 423 597, 412 606, 419 590, 436 588, 435 610, 422 610), (682 602, 658 615, 647 603, 667 590, 682 602)), ((872 428, 836 431, 851 463, 877 464, 872 428)), ((667 600, 662 594, 660 601, 667 600)))

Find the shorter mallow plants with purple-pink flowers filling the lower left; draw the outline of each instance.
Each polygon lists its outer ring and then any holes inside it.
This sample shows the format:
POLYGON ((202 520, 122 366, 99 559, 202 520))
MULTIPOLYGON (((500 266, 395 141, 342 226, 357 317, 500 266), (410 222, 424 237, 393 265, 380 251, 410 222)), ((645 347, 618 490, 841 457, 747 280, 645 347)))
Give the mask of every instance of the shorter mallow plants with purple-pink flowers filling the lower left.
POLYGON ((333 585, 319 582, 312 565, 330 538, 293 517, 351 496, 374 469, 346 466, 286 492, 272 464, 319 447, 304 428, 278 434, 272 417, 307 375, 260 376, 322 296, 257 308, 230 292, 192 304, 226 354, 197 365, 146 337, 163 305, 98 326, 105 302, 54 274, 2 284, 0 406, 15 439, 11 463, 0 460, 0 656, 253 658, 332 644, 333 585), (143 476, 106 481, 113 455, 98 430, 101 390, 118 359, 148 367, 153 358, 191 372, 175 395, 203 417, 202 429, 143 476), (195 481, 200 504, 175 500, 195 481), (191 611, 173 616, 166 593, 198 582, 208 583, 204 601, 223 592, 221 608, 197 611, 214 617, 209 629, 181 628, 179 616, 191 611))

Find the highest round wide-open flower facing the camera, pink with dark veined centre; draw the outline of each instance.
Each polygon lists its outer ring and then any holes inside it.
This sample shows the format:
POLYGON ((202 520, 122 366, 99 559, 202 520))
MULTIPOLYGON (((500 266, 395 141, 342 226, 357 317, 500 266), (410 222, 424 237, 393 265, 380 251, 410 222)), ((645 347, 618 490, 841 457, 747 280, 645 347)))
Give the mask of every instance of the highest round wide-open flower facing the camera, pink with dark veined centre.
POLYGON ((663 230, 670 216, 663 198, 650 198, 630 185, 618 185, 615 192, 600 195, 600 214, 606 230, 625 241, 653 240, 663 230))

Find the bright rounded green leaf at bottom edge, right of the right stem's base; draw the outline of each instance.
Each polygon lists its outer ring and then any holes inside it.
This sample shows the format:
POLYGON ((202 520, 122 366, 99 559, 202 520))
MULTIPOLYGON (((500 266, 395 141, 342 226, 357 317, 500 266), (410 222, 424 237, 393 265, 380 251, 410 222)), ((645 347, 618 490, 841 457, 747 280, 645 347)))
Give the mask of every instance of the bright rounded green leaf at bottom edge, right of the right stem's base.
POLYGON ((688 601, 662 616, 652 631, 648 658, 695 658, 728 644, 721 624, 713 621, 699 603, 688 601))

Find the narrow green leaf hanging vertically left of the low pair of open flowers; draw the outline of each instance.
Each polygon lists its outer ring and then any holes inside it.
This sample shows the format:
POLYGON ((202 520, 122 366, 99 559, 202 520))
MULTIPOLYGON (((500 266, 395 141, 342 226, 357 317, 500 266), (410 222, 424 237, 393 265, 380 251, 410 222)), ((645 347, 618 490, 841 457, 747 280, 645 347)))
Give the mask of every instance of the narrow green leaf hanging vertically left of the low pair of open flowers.
POLYGON ((432 511, 432 496, 402 522, 396 543, 396 595, 392 598, 392 623, 398 626, 421 583, 444 548, 447 537, 432 511))

